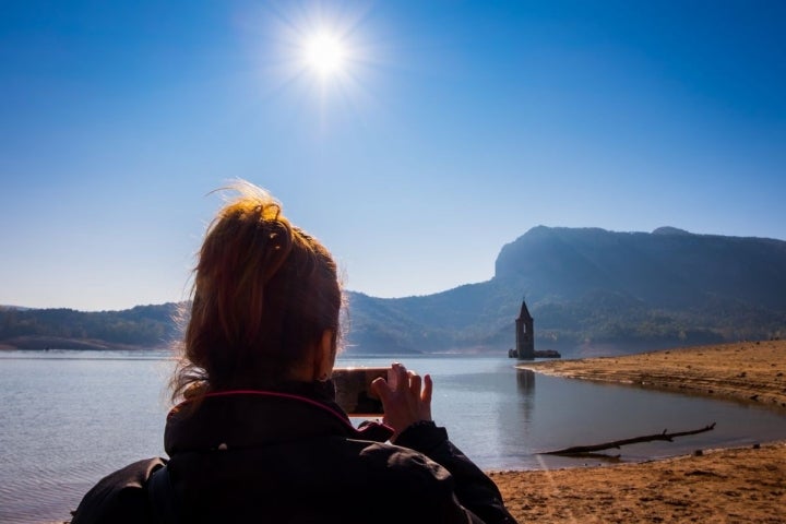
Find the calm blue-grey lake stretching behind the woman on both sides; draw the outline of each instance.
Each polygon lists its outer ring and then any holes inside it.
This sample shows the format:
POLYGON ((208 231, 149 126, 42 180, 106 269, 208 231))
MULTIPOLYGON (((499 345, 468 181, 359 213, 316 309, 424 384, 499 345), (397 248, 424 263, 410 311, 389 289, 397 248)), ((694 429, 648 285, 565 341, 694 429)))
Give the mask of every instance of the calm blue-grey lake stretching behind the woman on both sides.
MULTIPOLYGON (((712 422, 713 431, 615 453, 633 462, 786 438, 783 410, 535 374, 504 357, 400 360, 432 376, 434 419, 484 469, 594 465, 599 458, 538 453, 712 422)), ((171 367, 162 352, 0 352, 0 522, 67 520, 100 477, 163 455, 171 367)))

